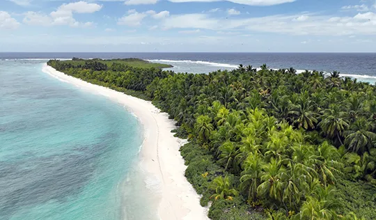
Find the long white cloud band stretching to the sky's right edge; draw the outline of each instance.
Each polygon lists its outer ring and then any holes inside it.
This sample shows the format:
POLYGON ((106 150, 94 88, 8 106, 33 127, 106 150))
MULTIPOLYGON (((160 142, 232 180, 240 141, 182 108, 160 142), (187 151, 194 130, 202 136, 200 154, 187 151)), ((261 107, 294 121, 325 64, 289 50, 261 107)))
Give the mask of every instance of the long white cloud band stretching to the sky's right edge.
POLYGON ((376 35, 376 14, 359 13, 354 17, 324 15, 272 15, 251 18, 218 18, 205 14, 172 15, 161 23, 164 29, 208 29, 213 31, 243 31, 288 34, 295 36, 376 35))

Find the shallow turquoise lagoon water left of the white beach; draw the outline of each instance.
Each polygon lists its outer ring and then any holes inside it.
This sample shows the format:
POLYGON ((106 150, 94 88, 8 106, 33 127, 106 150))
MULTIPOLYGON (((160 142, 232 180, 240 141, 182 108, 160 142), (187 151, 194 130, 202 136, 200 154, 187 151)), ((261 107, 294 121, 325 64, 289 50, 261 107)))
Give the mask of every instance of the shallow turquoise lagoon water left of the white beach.
POLYGON ((144 219, 141 125, 42 65, 0 61, 0 219, 144 219))

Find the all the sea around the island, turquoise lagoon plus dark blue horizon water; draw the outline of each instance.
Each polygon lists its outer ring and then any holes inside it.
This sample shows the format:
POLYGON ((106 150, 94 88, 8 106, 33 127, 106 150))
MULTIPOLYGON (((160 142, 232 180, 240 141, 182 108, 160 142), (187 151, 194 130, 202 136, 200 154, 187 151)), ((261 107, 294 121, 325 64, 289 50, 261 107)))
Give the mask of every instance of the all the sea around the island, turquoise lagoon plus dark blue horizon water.
POLYGON ((376 54, 0 53, 0 219, 154 219, 138 175, 139 122, 42 72, 49 58, 143 58, 176 72, 237 65, 338 70, 375 84, 376 54))

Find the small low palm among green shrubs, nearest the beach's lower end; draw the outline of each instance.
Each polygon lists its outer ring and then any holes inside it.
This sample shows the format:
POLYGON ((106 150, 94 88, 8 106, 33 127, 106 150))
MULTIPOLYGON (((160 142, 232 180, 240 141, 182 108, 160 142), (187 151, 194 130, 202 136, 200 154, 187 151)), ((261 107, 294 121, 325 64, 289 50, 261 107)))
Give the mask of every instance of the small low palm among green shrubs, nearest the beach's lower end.
POLYGON ((224 178, 222 176, 214 178, 210 187, 215 190, 215 194, 210 196, 210 198, 214 198, 214 201, 223 198, 233 200, 233 196, 239 195, 239 192, 231 186, 230 179, 227 175, 224 178))

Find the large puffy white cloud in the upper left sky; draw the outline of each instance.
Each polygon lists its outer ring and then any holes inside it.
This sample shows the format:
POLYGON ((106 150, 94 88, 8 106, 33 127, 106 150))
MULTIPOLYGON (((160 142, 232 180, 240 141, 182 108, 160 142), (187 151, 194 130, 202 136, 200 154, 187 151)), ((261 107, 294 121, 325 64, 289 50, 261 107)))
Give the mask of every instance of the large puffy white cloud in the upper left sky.
POLYGON ((86 1, 77 1, 75 3, 64 3, 57 10, 45 15, 29 11, 25 13, 23 22, 29 25, 39 26, 54 26, 54 25, 69 25, 72 27, 78 26, 92 26, 93 22, 77 22, 73 17, 73 13, 95 13, 100 10, 102 6, 97 3, 87 3, 86 1))

